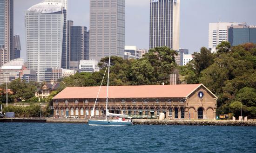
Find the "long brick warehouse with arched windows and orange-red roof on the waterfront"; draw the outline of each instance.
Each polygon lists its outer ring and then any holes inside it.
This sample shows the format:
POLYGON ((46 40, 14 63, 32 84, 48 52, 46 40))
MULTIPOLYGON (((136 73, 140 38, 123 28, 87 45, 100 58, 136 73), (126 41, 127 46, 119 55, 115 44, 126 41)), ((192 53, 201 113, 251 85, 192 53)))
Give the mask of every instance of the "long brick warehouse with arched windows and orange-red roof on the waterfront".
MULTIPOLYGON (((67 87, 53 98, 54 117, 89 118, 100 87, 67 87)), ((107 87, 101 87, 94 115, 104 118, 107 87)), ((215 119, 217 97, 203 84, 110 86, 110 113, 132 118, 215 119)))

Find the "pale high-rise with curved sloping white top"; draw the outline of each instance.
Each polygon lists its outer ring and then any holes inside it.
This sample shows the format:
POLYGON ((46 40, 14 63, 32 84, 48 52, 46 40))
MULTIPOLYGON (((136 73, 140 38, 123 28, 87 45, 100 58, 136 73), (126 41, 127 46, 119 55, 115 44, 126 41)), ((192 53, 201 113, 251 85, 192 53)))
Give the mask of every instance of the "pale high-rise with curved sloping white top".
POLYGON ((64 17, 57 2, 41 2, 26 12, 27 66, 37 71, 38 82, 44 81, 45 68, 61 68, 64 17))

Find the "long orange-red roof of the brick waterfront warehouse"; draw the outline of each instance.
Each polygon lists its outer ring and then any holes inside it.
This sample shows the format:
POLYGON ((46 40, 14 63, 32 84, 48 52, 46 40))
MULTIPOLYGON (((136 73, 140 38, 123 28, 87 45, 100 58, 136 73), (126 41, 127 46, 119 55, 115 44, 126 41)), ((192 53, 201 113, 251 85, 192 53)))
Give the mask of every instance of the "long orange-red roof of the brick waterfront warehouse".
MULTIPOLYGON (((109 98, 186 97, 202 84, 109 86, 109 98)), ((96 98, 100 87, 67 87, 53 99, 96 98)), ((101 87, 98 98, 107 97, 107 87, 101 87)))

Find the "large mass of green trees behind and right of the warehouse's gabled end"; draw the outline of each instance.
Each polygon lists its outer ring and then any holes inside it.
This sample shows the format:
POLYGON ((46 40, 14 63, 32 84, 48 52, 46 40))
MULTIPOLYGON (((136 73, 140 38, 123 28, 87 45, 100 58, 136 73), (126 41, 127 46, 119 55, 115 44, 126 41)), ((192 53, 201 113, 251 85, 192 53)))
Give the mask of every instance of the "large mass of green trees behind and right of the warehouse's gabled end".
POLYGON ((244 115, 256 116, 256 45, 248 43, 231 48, 228 42, 222 42, 216 54, 201 48, 180 69, 180 74, 187 83, 203 83, 219 97, 216 114, 233 112, 237 117, 242 102, 244 115))

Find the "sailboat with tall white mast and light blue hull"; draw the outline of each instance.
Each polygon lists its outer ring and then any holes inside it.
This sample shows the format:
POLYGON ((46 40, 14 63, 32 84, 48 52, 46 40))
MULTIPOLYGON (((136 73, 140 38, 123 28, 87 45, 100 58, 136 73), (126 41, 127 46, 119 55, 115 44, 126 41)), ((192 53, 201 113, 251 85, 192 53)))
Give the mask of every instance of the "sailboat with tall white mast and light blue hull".
MULTIPOLYGON (((110 55, 109 55, 109 60, 108 60, 107 68, 108 68, 108 82, 109 82, 110 55)), ((106 70, 107 70, 107 68, 106 68, 106 70)), ((106 70, 105 70, 103 79, 105 77, 106 70)), ((102 79, 102 82, 103 82, 103 79, 102 79)), ((101 85, 102 85, 102 82, 101 82, 101 85)), ((94 108, 91 111, 91 116, 90 116, 90 119, 88 121, 88 125, 92 125, 92 126, 126 126, 126 125, 132 125, 132 122, 130 120, 129 121, 125 121, 124 118, 121 118, 121 117, 127 117, 127 115, 125 115, 125 114, 109 113, 109 111, 108 111, 108 84, 107 84, 107 100, 106 100, 106 116, 105 116, 105 120, 91 120, 91 117, 94 116, 95 104, 97 102, 100 90, 101 90, 101 86, 100 86, 97 98, 95 100, 95 103, 94 103, 94 108), (110 119, 108 119, 108 117, 110 117, 110 116, 111 117, 120 117, 120 118, 117 118, 115 120, 110 120, 110 119)))

